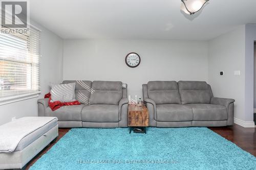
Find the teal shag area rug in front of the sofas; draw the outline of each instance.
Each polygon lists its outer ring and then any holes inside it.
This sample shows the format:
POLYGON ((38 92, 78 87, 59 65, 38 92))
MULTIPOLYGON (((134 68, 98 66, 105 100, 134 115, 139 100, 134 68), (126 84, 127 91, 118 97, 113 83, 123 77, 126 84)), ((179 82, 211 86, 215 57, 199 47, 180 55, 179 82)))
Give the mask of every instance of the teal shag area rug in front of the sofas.
POLYGON ((30 170, 255 169, 256 158, 208 128, 71 129, 30 170))

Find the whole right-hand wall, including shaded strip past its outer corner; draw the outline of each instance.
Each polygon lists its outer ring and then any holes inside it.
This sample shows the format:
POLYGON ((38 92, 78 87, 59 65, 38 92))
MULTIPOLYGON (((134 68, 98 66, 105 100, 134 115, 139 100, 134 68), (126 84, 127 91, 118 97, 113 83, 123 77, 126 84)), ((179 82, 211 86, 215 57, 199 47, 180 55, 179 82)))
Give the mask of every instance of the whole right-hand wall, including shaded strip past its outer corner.
POLYGON ((234 117, 244 126, 253 124, 253 42, 256 25, 244 25, 209 41, 209 83, 215 95, 233 98, 234 117), (219 71, 224 71, 224 76, 219 71), (241 76, 234 76, 241 70, 241 76), (240 121, 242 120, 242 121, 240 121))

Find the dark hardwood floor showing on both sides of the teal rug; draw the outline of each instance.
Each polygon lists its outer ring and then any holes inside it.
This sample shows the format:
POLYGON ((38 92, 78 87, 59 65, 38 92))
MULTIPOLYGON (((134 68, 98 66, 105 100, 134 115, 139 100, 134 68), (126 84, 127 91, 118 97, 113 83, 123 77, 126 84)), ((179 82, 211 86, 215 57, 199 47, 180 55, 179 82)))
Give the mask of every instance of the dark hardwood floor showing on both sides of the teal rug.
MULTIPOLYGON (((243 128, 239 125, 234 124, 229 127, 210 127, 210 130, 218 133, 222 137, 230 140, 231 142, 237 144, 243 150, 249 152, 250 154, 256 156, 256 132, 255 128, 243 128)), ((44 150, 42 150, 37 156, 34 157, 28 164, 26 169, 29 169, 33 163, 37 161, 42 155, 44 155, 52 146, 64 136, 70 128, 59 128, 59 136, 57 140, 48 145, 44 150)))

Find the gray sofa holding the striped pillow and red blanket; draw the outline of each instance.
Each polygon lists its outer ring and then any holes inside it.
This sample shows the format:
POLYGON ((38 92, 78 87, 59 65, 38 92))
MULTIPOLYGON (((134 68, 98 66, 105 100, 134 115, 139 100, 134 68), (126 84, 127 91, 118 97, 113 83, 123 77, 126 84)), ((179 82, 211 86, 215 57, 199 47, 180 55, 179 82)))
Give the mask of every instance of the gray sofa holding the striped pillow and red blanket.
POLYGON ((63 81, 76 83, 75 99, 81 105, 63 106, 52 111, 48 99, 38 100, 39 116, 58 118, 60 128, 127 127, 127 84, 114 81, 63 81))

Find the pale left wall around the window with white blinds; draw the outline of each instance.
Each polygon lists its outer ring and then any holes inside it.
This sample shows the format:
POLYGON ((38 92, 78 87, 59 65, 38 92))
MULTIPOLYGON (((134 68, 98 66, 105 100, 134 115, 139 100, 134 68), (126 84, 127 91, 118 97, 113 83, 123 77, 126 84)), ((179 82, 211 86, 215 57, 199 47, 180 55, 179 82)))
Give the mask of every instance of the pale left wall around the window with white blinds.
POLYGON ((10 122, 12 117, 37 116, 37 99, 49 92, 49 84, 62 80, 63 40, 38 23, 32 22, 41 30, 41 94, 38 98, 0 106, 0 125, 10 122))

